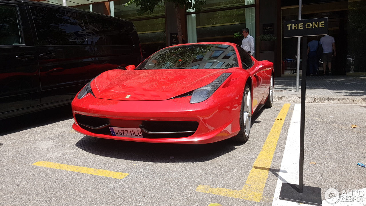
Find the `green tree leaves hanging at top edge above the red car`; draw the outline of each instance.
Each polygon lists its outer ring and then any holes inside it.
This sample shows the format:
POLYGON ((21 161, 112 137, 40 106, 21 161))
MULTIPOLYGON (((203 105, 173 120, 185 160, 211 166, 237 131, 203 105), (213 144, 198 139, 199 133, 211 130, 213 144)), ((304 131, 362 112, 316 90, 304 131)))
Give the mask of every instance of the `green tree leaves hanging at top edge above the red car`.
MULTIPOLYGON (((163 0, 130 0, 126 3, 126 6, 135 3, 136 7, 140 6, 140 9, 137 10, 138 13, 148 13, 151 14, 154 12, 156 6, 159 3, 163 2, 163 0)), ((195 9, 199 10, 200 6, 206 4, 206 0, 195 0, 194 2, 190 2, 189 0, 165 0, 165 2, 172 2, 175 6, 180 6, 185 9, 195 9)))

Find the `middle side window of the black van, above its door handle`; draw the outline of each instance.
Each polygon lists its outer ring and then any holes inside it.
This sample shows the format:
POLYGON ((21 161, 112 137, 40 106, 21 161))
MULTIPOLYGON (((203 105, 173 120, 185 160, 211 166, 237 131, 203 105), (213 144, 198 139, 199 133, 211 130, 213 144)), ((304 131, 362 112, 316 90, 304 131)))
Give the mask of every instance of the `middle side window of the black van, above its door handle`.
POLYGON ((87 44, 85 15, 30 7, 39 45, 87 44))

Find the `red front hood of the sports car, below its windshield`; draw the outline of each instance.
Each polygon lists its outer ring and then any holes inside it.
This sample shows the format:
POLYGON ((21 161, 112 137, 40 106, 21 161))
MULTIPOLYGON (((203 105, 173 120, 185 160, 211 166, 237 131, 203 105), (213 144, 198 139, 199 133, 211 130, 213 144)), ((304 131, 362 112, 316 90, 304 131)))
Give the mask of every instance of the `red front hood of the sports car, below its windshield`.
POLYGON ((109 70, 91 82, 96 98, 166 100, 208 85, 226 69, 109 70), (127 95, 131 95, 126 98, 127 95))

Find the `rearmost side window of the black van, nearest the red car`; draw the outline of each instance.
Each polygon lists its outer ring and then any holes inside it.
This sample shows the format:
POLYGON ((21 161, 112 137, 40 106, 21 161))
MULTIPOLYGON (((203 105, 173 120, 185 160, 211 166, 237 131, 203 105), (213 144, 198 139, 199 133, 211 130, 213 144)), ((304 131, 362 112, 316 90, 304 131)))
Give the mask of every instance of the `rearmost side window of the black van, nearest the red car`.
POLYGON ((122 23, 96 16, 87 16, 92 35, 95 35, 96 45, 133 46, 134 43, 126 26, 122 23))

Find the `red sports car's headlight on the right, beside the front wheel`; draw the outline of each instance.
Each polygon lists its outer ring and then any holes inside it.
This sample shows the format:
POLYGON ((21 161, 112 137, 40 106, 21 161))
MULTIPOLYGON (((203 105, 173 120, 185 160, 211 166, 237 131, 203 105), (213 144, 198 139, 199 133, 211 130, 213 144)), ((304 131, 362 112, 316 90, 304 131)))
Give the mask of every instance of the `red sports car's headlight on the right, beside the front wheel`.
POLYGON ((208 99, 216 91, 216 89, 218 89, 221 86, 221 84, 224 83, 224 81, 230 76, 230 74, 231 73, 223 73, 210 84, 195 89, 193 91, 192 98, 189 102, 193 104, 203 102, 206 99, 208 99))

